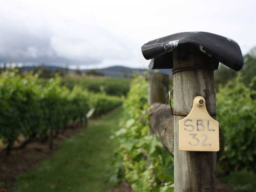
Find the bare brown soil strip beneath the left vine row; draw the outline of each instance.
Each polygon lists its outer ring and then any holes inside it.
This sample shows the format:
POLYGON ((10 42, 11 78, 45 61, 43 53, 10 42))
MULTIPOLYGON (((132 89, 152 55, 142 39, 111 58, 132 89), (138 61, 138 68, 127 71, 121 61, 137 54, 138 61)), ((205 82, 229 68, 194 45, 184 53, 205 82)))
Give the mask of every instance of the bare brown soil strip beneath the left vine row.
MULTIPOLYGON (((81 126, 68 127, 61 132, 53 140, 53 149, 49 149, 49 142, 41 143, 39 141, 29 143, 24 148, 19 150, 12 150, 9 155, 5 155, 0 159, 0 192, 10 191, 16 181, 17 175, 27 172, 28 170, 36 167, 44 159, 52 156, 52 154, 59 148, 60 144, 67 138, 80 133, 81 126)), ((19 142, 15 143, 17 146, 23 142, 24 138, 20 137, 19 142)), ((3 149, 4 144, 0 145, 0 151, 3 149)))

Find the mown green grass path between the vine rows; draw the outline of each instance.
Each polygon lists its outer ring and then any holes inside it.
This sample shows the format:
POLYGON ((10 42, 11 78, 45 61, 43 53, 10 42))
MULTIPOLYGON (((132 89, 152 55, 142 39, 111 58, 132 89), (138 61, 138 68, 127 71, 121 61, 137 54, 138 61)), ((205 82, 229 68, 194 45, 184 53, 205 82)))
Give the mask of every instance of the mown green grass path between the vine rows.
POLYGON ((115 142, 109 137, 118 129, 122 109, 118 108, 66 140, 50 159, 19 175, 14 191, 101 192, 113 169, 111 158, 115 142))

